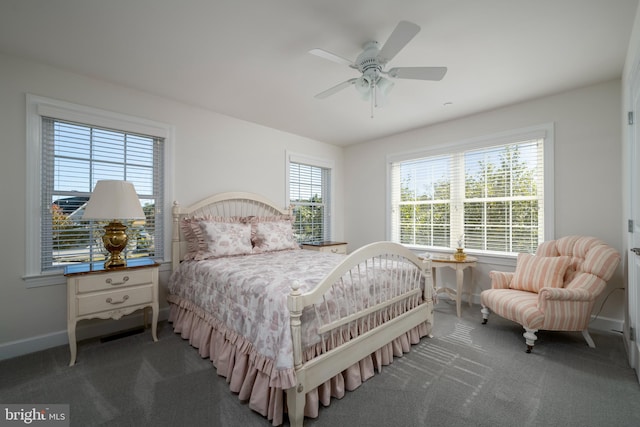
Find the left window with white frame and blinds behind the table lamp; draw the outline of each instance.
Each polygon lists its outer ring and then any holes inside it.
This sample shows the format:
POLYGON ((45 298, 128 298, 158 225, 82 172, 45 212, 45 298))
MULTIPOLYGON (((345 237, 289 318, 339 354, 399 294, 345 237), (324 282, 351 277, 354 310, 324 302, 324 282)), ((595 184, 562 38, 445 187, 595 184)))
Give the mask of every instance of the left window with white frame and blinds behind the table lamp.
POLYGON ((40 97, 28 96, 27 107, 28 185, 37 193, 27 199, 27 209, 36 213, 28 227, 27 280, 72 263, 105 259, 104 223, 82 219, 91 191, 102 179, 132 182, 145 213, 144 221, 127 224, 125 256, 163 260, 169 129, 40 97))

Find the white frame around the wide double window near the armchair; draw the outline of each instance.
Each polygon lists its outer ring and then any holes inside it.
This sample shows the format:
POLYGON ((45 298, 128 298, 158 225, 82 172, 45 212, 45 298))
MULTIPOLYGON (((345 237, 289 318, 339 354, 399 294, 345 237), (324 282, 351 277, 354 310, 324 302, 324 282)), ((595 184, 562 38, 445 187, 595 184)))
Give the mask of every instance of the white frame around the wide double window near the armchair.
MULTIPOLYGON (((527 128, 508 130, 496 134, 486 135, 478 138, 458 141, 454 143, 440 144, 416 151, 395 153, 387 156, 387 224, 386 236, 388 240, 393 236, 393 213, 392 213, 392 191, 393 177, 392 164, 413 159, 432 157, 452 152, 468 151, 474 149, 488 148, 497 145, 507 145, 516 141, 526 141, 529 139, 541 138, 544 140, 544 207, 543 207, 543 224, 544 224, 544 240, 553 240, 555 238, 555 208, 554 208, 554 124, 545 123, 541 125, 531 126, 527 128)), ((453 216, 453 215, 452 215, 453 216)), ((452 229, 452 233, 453 233, 452 229)), ((453 235, 453 234, 452 234, 453 235)), ((424 247, 407 245, 414 250, 424 250, 424 247)), ((429 248, 432 250, 432 248, 429 248)), ((442 248, 433 248, 433 251, 442 250, 442 248)), ((473 253, 472 250, 467 252, 473 253)), ((478 254, 490 255, 496 257, 515 257, 514 254, 508 253, 489 253, 479 251, 478 254)))

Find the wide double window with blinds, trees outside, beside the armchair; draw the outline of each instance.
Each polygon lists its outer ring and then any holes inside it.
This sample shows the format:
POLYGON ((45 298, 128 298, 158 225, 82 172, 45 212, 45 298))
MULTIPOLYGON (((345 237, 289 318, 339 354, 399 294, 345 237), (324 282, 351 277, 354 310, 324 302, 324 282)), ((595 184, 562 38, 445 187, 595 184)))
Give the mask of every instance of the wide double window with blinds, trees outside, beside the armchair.
POLYGON ((486 138, 390 161, 391 240, 417 248, 535 252, 551 219, 552 131, 486 138))

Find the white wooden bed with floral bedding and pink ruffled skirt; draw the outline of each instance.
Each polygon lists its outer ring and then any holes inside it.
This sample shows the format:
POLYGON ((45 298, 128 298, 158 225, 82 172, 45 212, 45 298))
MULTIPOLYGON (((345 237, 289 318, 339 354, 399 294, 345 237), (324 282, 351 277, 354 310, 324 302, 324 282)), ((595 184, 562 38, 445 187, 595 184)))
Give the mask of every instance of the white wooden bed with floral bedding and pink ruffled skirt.
POLYGON ((430 261, 403 246, 303 250, 291 224, 252 193, 174 203, 167 300, 174 331, 232 392, 302 426, 429 336, 433 299, 430 261))

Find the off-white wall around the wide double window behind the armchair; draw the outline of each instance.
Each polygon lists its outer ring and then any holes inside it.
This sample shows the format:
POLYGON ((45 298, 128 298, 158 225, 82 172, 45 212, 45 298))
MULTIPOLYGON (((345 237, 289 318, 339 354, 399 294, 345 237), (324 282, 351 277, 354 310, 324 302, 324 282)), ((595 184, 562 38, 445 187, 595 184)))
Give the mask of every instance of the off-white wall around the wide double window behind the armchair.
MULTIPOLYGON (((620 81, 610 81, 346 148, 346 240, 354 248, 387 238, 387 155, 553 122, 556 237, 596 236, 621 251, 620 91, 620 81)), ((481 260, 475 272, 476 300, 482 289, 490 287, 489 270, 513 270, 515 265, 512 260, 481 260)), ((452 274, 443 279, 454 280, 452 274)), ((608 290, 621 287, 619 268, 608 290)), ((596 303, 596 310, 607 294, 596 303)), ((600 315, 605 320, 601 326, 621 329, 623 301, 622 291, 612 292, 600 315)))

